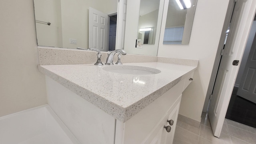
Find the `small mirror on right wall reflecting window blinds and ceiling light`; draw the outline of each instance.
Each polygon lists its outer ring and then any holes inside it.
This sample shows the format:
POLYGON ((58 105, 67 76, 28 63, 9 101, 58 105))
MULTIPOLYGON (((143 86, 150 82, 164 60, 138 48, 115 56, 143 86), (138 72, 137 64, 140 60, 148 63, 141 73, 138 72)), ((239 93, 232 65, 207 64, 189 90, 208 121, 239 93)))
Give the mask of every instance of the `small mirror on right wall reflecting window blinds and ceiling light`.
POLYGON ((163 44, 188 44, 196 0, 169 0, 163 44))

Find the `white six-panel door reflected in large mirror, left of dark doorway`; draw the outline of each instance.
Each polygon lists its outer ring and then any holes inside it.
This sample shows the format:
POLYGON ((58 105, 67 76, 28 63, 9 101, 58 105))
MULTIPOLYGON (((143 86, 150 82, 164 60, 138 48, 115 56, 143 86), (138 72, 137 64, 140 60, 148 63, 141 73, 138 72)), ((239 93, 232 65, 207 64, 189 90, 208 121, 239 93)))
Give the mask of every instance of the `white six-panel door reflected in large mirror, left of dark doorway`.
POLYGON ((108 51, 109 17, 94 8, 89 8, 89 48, 108 51))

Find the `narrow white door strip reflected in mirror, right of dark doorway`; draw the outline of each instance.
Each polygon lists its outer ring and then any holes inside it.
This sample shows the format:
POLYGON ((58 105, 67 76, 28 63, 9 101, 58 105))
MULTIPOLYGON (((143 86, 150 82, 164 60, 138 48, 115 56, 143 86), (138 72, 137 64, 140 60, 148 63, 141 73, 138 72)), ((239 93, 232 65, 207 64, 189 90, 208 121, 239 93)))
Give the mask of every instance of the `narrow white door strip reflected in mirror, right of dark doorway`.
POLYGON ((116 48, 124 49, 127 0, 118 0, 116 48))

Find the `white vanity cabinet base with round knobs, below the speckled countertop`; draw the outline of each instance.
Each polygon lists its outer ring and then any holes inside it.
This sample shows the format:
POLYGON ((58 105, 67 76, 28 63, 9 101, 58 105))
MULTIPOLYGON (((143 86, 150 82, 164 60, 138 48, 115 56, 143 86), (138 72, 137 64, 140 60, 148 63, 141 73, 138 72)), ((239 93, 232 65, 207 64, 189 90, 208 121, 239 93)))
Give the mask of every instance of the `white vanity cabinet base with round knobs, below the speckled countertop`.
MULTIPOLYGON (((81 144, 172 144, 187 76, 126 122, 120 122, 46 77, 48 104, 81 144), (167 120, 173 120, 171 131, 167 120)), ((188 81, 189 82, 189 81, 188 81)))

